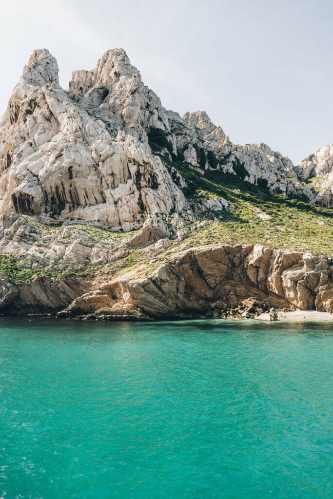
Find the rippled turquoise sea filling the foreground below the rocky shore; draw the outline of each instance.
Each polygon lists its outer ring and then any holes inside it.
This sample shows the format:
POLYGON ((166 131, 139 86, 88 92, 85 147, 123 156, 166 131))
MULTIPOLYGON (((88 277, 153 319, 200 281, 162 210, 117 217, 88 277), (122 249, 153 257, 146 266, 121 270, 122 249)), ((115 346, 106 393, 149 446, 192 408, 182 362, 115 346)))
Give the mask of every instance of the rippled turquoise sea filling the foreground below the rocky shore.
POLYGON ((0 318, 0 498, 332 497, 332 323, 0 318))

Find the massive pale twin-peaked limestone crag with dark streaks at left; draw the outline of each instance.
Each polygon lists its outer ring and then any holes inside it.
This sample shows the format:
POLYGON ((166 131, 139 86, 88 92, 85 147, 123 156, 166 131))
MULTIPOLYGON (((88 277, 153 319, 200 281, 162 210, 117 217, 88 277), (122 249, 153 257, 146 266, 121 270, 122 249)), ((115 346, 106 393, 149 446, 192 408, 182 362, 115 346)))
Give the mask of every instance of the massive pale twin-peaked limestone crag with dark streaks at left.
POLYGON ((125 52, 104 54, 91 75, 76 72, 68 93, 57 73, 51 54, 36 50, 9 101, 0 124, 0 212, 131 230, 149 213, 189 210, 148 146, 142 125, 163 112, 125 52))

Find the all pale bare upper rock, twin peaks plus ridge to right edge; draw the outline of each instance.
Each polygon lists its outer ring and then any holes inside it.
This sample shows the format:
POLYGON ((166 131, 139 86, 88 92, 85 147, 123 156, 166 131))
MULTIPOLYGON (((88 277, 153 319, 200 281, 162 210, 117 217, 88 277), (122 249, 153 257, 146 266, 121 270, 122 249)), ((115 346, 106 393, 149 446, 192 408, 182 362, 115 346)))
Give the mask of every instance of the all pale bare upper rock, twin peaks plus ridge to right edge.
POLYGON ((0 213, 125 231, 156 212, 193 219, 181 177, 176 185, 160 156, 332 206, 330 154, 296 168, 265 144, 232 144, 205 112, 164 109, 123 49, 105 52, 93 70, 74 71, 68 91, 54 57, 35 50, 0 123, 0 213), (307 185, 313 171, 320 184, 307 185))

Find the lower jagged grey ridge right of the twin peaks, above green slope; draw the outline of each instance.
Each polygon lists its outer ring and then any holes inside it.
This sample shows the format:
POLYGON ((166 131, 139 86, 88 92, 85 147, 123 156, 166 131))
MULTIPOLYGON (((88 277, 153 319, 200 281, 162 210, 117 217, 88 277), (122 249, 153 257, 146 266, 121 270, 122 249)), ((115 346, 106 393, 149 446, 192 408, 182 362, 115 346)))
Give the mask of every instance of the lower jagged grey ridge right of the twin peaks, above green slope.
POLYGON ((314 201, 313 192, 299 179, 291 160, 266 144, 233 144, 203 111, 182 117, 168 111, 167 117, 169 127, 164 130, 174 157, 184 158, 202 173, 206 169, 221 170, 272 191, 314 201))

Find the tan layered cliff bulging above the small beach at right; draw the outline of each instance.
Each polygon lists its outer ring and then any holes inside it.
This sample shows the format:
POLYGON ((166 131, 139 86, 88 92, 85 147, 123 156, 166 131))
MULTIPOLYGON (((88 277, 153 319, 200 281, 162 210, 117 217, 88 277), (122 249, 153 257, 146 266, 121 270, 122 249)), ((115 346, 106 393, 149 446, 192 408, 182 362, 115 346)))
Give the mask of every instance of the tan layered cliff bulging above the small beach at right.
POLYGON ((149 277, 123 276, 76 298, 61 316, 188 317, 249 296, 278 308, 331 311, 333 261, 262 246, 215 246, 179 253, 149 277), (102 308, 102 310, 101 310, 102 308))

